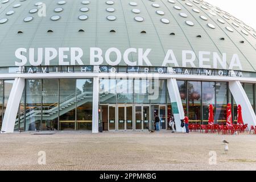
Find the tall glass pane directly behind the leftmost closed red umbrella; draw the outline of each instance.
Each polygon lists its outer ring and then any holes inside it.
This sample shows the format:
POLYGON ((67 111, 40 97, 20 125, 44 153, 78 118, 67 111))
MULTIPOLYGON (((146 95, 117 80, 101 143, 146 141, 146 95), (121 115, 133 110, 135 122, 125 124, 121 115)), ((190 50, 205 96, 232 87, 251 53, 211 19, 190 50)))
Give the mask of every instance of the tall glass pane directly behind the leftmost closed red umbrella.
POLYGON ((202 82, 203 124, 208 124, 209 105, 215 105, 215 83, 202 82))

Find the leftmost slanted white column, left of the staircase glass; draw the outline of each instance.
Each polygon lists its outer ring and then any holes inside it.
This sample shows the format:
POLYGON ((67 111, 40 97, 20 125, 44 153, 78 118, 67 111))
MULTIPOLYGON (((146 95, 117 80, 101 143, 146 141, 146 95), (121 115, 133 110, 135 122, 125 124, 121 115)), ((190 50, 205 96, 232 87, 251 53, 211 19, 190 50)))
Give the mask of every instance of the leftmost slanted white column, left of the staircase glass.
POLYGON ((16 115, 19 110, 19 103, 22 97, 24 86, 25 86, 24 78, 15 78, 13 88, 11 88, 9 100, 7 102, 7 107, 5 110, 5 117, 3 118, 1 133, 14 132, 16 115))

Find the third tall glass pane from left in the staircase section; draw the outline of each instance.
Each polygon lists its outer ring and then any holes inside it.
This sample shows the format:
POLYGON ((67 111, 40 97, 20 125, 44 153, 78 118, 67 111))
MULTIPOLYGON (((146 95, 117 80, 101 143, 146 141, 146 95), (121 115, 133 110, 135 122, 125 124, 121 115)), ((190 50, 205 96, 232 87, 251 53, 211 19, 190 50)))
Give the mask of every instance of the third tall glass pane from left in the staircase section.
POLYGON ((59 130, 75 130, 76 79, 60 79, 59 130))

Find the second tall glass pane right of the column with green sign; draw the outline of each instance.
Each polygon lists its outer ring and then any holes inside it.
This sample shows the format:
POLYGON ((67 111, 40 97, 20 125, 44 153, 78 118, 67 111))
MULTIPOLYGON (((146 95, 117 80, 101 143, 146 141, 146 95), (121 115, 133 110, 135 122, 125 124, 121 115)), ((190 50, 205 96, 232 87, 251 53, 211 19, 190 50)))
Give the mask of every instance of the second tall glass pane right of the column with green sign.
POLYGON ((191 122, 201 122, 201 82, 188 81, 188 118, 191 122))

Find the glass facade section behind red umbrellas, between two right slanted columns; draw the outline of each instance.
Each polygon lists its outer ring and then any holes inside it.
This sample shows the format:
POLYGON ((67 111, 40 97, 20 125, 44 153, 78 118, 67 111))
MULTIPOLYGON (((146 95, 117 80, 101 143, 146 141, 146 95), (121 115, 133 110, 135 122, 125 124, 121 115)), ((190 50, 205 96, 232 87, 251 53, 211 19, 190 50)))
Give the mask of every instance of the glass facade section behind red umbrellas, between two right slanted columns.
POLYGON ((210 104, 214 108, 215 123, 226 121, 228 82, 177 80, 177 85, 184 112, 191 122, 207 124, 210 104))

